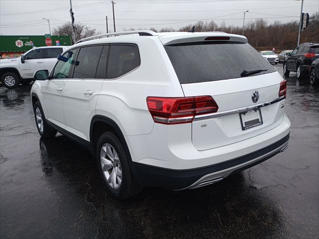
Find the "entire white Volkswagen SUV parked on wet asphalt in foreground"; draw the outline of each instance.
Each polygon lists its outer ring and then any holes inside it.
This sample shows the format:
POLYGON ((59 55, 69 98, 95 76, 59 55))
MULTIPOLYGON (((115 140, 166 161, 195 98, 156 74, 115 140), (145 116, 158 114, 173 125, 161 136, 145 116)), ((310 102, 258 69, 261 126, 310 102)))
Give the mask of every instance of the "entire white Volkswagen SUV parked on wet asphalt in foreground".
POLYGON ((113 196, 205 186, 288 147, 287 82, 245 37, 116 34, 71 46, 31 89, 40 135, 89 148, 113 196))

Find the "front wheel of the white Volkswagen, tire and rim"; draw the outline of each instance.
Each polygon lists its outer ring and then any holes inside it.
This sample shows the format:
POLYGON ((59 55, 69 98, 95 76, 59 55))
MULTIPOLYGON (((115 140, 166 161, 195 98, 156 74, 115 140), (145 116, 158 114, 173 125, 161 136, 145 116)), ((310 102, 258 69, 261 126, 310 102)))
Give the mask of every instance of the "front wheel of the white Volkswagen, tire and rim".
POLYGON ((41 137, 44 137, 44 138, 54 137, 57 131, 47 124, 40 102, 38 101, 35 102, 33 106, 33 112, 34 112, 36 127, 41 137))

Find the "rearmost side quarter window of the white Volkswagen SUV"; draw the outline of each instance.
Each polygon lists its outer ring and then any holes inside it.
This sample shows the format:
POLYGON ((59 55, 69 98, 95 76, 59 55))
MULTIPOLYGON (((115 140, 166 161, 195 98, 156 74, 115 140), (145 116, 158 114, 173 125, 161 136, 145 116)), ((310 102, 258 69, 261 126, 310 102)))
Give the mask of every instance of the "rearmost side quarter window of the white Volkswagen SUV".
POLYGON ((107 78, 123 76, 140 64, 139 49, 136 45, 111 45, 107 78))

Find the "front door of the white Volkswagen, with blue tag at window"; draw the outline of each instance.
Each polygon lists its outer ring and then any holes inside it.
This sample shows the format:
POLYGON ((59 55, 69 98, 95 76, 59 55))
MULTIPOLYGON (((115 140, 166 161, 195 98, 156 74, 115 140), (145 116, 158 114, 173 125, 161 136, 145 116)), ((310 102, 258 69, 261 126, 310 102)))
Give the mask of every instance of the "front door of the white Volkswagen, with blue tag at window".
MULTIPOLYGON (((41 104, 44 105, 42 107, 43 109, 47 109, 47 111, 44 112, 46 119, 63 129, 65 128, 65 120, 63 116, 62 93, 65 83, 68 80, 76 51, 77 49, 72 50, 73 54, 67 62, 58 61, 50 74, 52 79, 46 80, 41 87, 41 92, 43 94, 43 102, 41 102, 41 104)), ((68 54, 69 52, 66 52, 63 56, 67 57, 68 54)))

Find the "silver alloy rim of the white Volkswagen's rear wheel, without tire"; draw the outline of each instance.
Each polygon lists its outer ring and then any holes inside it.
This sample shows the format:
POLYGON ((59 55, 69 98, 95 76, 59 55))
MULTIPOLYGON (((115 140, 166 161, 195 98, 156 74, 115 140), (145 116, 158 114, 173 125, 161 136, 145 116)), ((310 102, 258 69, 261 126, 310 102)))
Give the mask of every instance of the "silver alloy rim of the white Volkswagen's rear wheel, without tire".
POLYGON ((105 143, 101 148, 100 156, 106 181, 110 187, 118 189, 122 183, 122 168, 118 153, 111 144, 105 143))

